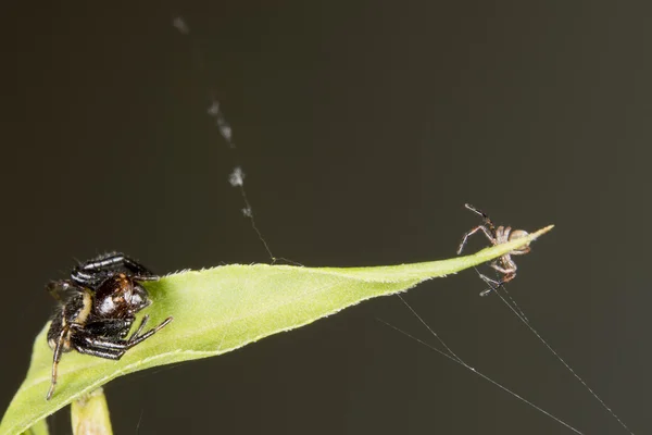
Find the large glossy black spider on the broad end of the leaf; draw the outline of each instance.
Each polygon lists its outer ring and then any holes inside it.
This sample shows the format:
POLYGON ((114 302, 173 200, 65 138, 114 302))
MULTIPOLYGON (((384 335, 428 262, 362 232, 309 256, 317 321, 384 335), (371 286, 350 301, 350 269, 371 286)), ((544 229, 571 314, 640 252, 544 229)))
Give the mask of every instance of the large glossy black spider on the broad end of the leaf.
POLYGON ((48 331, 48 345, 54 356, 47 400, 54 393, 57 369, 63 352, 74 349, 79 353, 120 360, 128 349, 172 322, 172 318, 167 318, 159 326, 140 334, 149 319, 146 315, 127 338, 136 313, 152 302, 139 282, 158 278, 135 260, 111 252, 73 269, 71 279, 52 281, 47 285, 48 291, 60 303, 60 311, 54 314, 48 331))

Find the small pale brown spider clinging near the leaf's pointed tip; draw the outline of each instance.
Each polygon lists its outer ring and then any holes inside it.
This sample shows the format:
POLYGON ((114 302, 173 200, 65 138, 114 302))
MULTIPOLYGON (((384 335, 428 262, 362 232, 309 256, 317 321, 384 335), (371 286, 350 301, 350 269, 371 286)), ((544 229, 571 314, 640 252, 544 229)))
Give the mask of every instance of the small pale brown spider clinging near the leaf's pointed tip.
MULTIPOLYGON (((464 249, 464 245, 466 245, 466 240, 468 239, 468 237, 473 236, 474 234, 476 234, 479 231, 485 233, 485 236, 487 236, 487 238, 489 239, 489 241, 491 241, 491 245, 493 245, 493 246, 505 244, 505 243, 512 241, 512 240, 516 240, 517 238, 526 237, 528 235, 528 233, 526 231, 512 229, 511 226, 499 225, 497 227, 496 225, 493 225, 493 222, 491 222, 489 216, 487 214, 485 214, 482 211, 476 209, 472 204, 464 204, 464 207, 466 207, 468 210, 473 211, 474 213, 482 216, 482 224, 472 228, 471 231, 468 231, 464 234, 464 237, 462 237, 462 243, 460 244, 460 248, 457 248, 457 256, 460 253, 462 253, 462 249, 464 249)), ((493 268, 494 270, 497 270, 498 272, 503 274, 503 276, 500 281, 491 279, 485 275, 480 275, 480 277, 482 279, 485 279, 489 285, 496 284, 497 287, 500 287, 501 285, 509 283, 510 281, 512 281, 516 277, 516 269, 517 269, 516 263, 514 262, 514 260, 512 260, 512 256, 523 256, 524 253, 528 253, 529 251, 530 251, 530 247, 529 247, 529 244, 527 244, 518 249, 514 249, 513 251, 510 251, 510 252, 505 253, 504 256, 499 257, 498 259, 493 260, 489 265, 491 268, 493 268)), ((485 296, 489 291, 491 291, 491 290, 485 290, 480 294, 480 296, 485 296)))

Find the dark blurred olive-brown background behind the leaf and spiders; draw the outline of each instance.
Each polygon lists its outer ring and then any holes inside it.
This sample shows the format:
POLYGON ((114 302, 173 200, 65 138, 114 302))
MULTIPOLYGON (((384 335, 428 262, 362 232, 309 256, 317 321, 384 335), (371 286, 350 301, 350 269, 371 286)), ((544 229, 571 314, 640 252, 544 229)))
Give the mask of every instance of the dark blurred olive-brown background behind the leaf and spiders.
MULTIPOLYGON (((239 163, 274 254, 305 265, 451 257, 478 222, 464 202, 525 229, 554 223, 517 258, 511 295, 651 433, 651 14, 592 1, 5 5, 0 408, 53 310, 43 284, 74 259, 122 250, 161 273, 269 261, 227 183, 239 163), (208 85, 237 153, 206 114, 208 85)), ((484 288, 471 271, 405 298, 471 365, 584 433, 626 433, 484 288)), ((435 344, 380 298, 116 380, 114 431, 572 433, 377 318, 435 344)))

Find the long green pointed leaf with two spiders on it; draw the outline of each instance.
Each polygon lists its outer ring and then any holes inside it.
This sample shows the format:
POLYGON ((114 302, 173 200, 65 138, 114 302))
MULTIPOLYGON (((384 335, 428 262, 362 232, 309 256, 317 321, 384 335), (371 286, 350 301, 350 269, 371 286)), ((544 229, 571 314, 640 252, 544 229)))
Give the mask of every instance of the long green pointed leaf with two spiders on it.
POLYGON ((363 300, 404 291, 423 281, 492 260, 551 228, 473 256, 426 263, 351 269, 231 264, 167 275, 147 284, 153 303, 142 314, 150 315, 150 326, 170 315, 174 321, 120 361, 64 355, 59 384, 49 401, 52 351, 46 343, 46 325, 34 343, 27 377, 2 418, 0 435, 20 434, 117 376, 228 352, 363 300))

